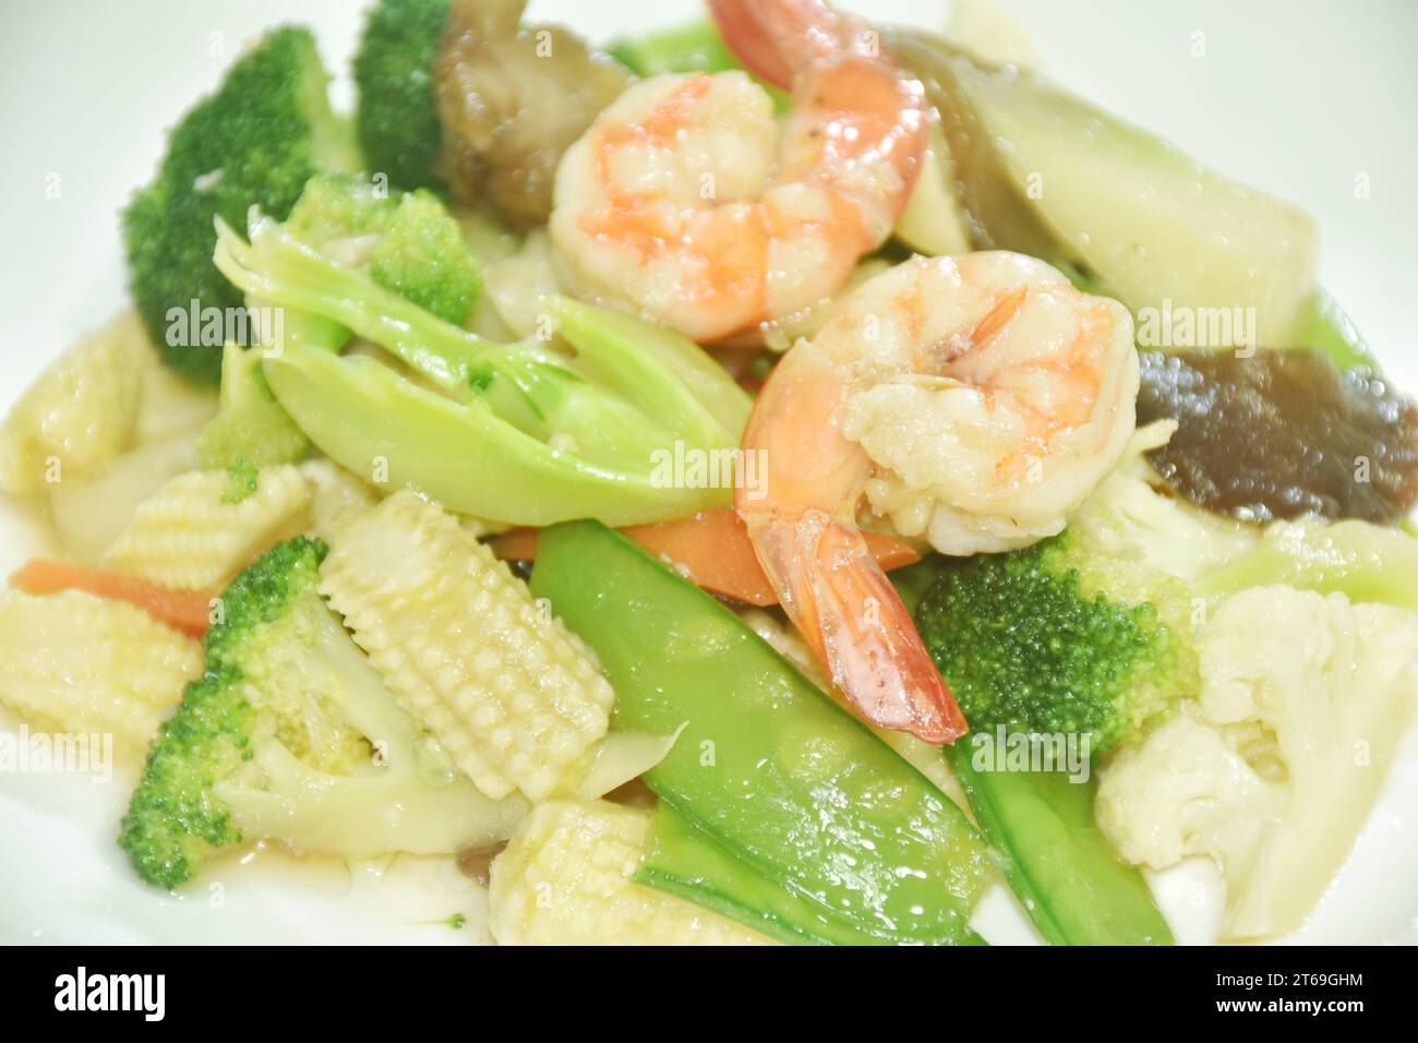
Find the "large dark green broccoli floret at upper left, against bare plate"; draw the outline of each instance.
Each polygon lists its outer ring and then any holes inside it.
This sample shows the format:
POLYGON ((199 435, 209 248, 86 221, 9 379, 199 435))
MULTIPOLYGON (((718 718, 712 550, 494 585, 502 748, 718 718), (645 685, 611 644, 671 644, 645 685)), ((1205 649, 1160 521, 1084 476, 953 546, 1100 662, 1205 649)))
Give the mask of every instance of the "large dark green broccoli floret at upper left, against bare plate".
POLYGON ((123 214, 133 299, 166 362, 190 380, 217 382, 220 345, 199 329, 183 336, 170 311, 241 307, 211 264, 213 217, 244 224, 251 206, 284 217, 316 169, 362 166, 349 125, 330 112, 328 79, 308 30, 271 31, 173 129, 156 177, 123 214))

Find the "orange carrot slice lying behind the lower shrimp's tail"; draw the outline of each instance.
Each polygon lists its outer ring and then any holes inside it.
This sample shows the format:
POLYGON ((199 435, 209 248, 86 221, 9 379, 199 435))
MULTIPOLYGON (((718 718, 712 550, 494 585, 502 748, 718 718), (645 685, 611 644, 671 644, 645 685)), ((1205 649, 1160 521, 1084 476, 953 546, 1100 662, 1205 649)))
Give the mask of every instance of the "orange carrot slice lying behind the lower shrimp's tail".
MULTIPOLYGON (((678 565, 686 579, 716 595, 746 605, 777 605, 778 596, 759 565, 749 531, 733 508, 700 511, 683 521, 631 525, 621 529, 657 558, 678 565)), ((909 543, 875 532, 864 532, 866 546, 882 569, 898 569, 920 561, 909 543)), ((536 529, 513 529, 492 539, 499 558, 533 561, 536 529)))

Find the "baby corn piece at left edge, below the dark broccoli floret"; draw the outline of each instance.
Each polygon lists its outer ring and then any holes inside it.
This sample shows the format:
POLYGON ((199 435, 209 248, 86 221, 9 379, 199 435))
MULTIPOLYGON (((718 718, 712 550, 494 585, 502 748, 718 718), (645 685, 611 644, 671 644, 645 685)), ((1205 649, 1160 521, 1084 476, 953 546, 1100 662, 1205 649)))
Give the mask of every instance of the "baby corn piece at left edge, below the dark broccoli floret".
POLYGON ((0 491, 40 492, 128 448, 150 355, 132 311, 71 345, 0 424, 0 491))

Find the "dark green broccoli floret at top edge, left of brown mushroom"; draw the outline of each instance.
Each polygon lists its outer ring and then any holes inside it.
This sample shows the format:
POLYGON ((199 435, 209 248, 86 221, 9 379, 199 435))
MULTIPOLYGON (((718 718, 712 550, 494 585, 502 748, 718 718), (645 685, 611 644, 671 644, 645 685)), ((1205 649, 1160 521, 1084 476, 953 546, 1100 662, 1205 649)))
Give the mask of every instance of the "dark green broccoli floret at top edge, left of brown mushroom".
POLYGON ((440 184, 434 162, 442 129, 432 70, 450 6, 450 0, 380 0, 354 55, 360 143, 370 169, 403 189, 440 184))

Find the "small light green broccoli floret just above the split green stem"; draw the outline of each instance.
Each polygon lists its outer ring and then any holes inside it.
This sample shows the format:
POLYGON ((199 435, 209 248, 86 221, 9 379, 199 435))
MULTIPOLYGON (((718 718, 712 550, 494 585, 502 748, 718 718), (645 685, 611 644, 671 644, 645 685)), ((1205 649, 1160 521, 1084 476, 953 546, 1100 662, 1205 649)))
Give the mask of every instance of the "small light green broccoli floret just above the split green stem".
POLYGON ((285 221, 302 243, 370 278, 444 322, 461 326, 482 289, 482 271, 458 221, 430 192, 380 192, 372 182, 318 175, 285 221))

